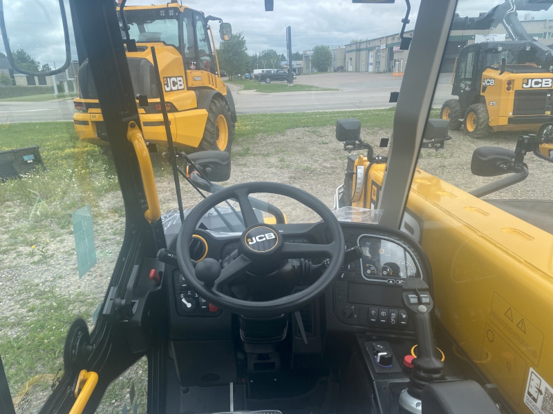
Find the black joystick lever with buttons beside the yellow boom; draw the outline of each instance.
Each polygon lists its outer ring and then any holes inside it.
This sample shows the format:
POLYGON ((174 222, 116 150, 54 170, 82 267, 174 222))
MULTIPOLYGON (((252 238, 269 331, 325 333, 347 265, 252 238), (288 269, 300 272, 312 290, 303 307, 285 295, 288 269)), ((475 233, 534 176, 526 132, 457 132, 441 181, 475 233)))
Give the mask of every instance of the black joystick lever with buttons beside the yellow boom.
POLYGON ((444 363, 435 357, 430 313, 434 306, 428 285, 422 279, 407 279, 403 286, 403 307, 415 325, 417 357, 409 386, 400 395, 400 406, 408 413, 420 413, 422 388, 444 379, 444 363))

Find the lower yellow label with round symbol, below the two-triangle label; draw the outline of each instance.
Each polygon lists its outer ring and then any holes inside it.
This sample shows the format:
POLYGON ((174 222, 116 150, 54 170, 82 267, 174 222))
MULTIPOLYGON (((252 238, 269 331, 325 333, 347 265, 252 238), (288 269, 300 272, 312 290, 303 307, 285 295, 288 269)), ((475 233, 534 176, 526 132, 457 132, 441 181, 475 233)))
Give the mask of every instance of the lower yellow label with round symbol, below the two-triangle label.
POLYGON ((503 388, 505 395, 518 406, 524 388, 526 361, 489 324, 486 324, 484 332, 480 364, 494 377, 496 384, 503 388))

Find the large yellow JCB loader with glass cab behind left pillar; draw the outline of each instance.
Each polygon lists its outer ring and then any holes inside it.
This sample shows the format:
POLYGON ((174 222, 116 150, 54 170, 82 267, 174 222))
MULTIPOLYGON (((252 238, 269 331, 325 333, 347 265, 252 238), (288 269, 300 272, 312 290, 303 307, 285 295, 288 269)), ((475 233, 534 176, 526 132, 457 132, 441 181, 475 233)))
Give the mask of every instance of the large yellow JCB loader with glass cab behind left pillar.
MULTIPOLYGON (((210 20, 198 12, 171 3, 158 6, 118 6, 126 59, 136 96, 144 139, 167 146, 160 93, 165 96, 171 133, 182 149, 230 152, 236 109, 228 86, 218 76, 210 20), (125 27, 126 26, 126 27, 125 27), (126 31, 125 31, 126 29, 126 31), (209 38, 211 37, 211 41, 209 38), (156 49, 163 90, 158 90, 151 47, 156 49)), ((221 39, 229 40, 229 23, 221 23, 221 39)), ((109 74, 106 74, 109 76, 109 74)), ((73 121, 79 139, 108 146, 104 116, 88 59, 79 69, 79 97, 74 100, 73 121)))

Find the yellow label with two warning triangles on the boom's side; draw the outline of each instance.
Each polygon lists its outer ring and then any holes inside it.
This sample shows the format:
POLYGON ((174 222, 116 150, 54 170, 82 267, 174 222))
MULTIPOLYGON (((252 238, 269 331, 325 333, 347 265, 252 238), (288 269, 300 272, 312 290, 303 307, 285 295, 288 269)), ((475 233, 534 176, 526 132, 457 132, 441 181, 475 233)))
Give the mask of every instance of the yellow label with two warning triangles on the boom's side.
POLYGON ((543 333, 496 292, 489 319, 530 361, 538 365, 543 333))

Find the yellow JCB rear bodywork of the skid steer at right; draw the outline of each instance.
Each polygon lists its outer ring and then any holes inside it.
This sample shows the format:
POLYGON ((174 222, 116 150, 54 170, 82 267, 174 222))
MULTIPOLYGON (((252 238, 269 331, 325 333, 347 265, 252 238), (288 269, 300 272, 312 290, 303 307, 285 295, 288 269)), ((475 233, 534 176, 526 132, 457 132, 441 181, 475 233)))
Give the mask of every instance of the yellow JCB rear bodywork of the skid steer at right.
MULTIPOLYGON (((518 65, 527 68, 527 65, 518 65)), ((547 92, 553 90, 553 75, 503 72, 488 68, 482 72, 481 95, 485 97, 489 125, 495 131, 537 131, 550 116, 551 108, 537 114, 533 106, 543 106, 547 92), (534 112, 528 114, 527 112, 534 112)))

